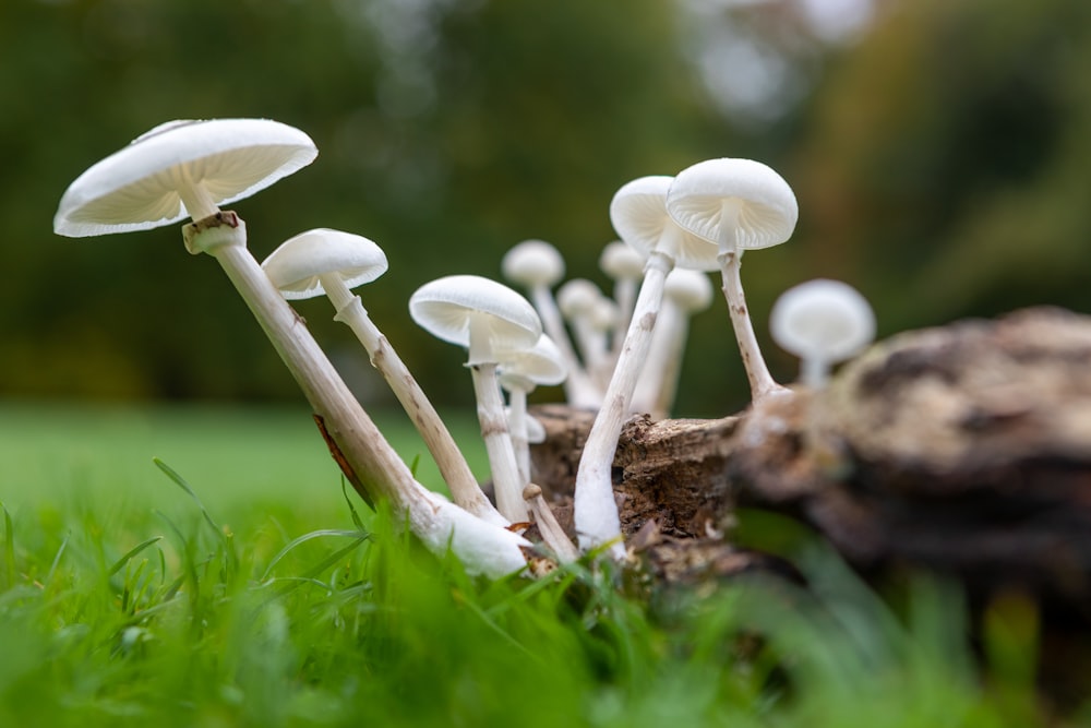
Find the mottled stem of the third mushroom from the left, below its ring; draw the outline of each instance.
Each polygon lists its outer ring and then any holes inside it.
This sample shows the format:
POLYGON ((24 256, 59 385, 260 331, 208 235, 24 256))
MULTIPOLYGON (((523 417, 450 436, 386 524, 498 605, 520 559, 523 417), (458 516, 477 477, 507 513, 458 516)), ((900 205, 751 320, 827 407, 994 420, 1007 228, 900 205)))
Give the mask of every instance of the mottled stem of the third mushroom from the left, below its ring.
MULTIPOLYGON (((472 348, 471 348, 472 350, 472 348)), ((478 404, 481 437, 489 455, 492 485, 496 492, 496 509, 512 523, 527 520, 527 505, 523 500, 519 466, 512 446, 512 435, 504 414, 504 398, 496 382, 496 363, 492 361, 468 365, 473 377, 473 394, 478 404)))

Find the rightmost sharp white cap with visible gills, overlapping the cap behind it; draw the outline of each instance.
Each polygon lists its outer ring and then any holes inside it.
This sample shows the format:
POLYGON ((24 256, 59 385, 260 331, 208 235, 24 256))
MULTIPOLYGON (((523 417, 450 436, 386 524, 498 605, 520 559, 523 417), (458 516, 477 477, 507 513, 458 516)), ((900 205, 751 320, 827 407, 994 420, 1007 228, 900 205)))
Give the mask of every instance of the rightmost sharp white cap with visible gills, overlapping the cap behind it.
POLYGON ((754 250, 780 244, 791 237, 799 203, 784 178, 753 159, 708 159, 674 177, 667 210, 679 225, 718 242, 726 200, 739 207, 735 246, 754 250))

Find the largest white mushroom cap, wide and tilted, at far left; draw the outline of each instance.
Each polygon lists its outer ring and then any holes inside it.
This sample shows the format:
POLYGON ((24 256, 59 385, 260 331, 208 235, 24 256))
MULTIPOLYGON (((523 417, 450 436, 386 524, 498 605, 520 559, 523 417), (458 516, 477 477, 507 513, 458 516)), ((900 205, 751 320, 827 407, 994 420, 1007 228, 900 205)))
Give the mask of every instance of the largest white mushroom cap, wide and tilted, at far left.
POLYGON ((80 175, 61 198, 53 230, 82 238, 170 225, 189 216, 182 184, 200 183, 217 205, 235 202, 317 153, 305 133, 269 119, 169 121, 80 175))

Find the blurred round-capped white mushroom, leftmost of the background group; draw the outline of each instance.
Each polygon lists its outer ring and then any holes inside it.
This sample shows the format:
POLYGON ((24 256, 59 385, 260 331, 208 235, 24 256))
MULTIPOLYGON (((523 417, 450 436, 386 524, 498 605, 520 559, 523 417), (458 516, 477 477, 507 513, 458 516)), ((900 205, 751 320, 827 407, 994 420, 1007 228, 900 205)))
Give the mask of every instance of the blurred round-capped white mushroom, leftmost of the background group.
POLYGON ((564 357, 568 369, 568 378, 564 382, 568 404, 573 407, 597 408, 602 401, 601 392, 594 385, 576 356, 551 290, 551 286, 564 277, 564 259, 561 253, 544 240, 524 240, 504 253, 501 273, 512 283, 526 288, 541 318, 542 329, 564 357))

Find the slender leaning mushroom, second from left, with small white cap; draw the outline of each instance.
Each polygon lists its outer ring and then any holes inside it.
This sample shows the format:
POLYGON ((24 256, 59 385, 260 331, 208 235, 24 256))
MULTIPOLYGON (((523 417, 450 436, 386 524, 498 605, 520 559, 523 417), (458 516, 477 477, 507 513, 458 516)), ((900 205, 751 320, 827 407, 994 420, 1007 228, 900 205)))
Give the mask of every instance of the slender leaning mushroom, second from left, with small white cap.
POLYGON ((381 276, 386 267, 386 254, 373 241, 328 228, 308 230, 286 240, 262 263, 265 274, 287 300, 322 295, 329 299, 336 311, 334 320, 352 330, 368 351, 371 365, 409 415, 455 503, 476 516, 506 526, 506 520, 481 491, 439 413, 368 315, 360 297, 351 293, 381 276))

